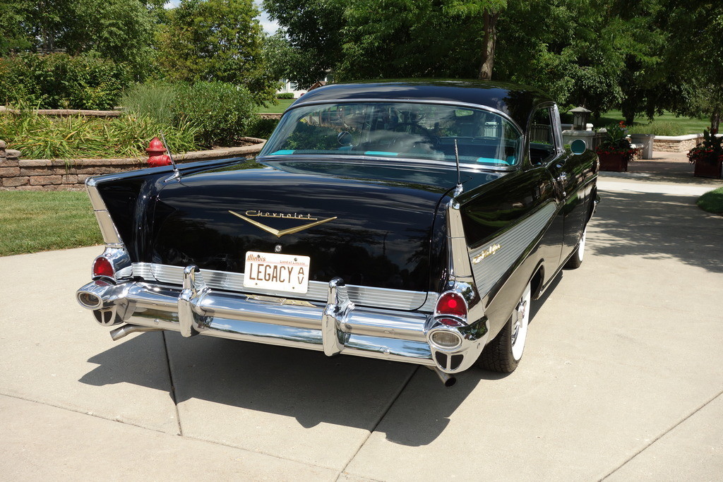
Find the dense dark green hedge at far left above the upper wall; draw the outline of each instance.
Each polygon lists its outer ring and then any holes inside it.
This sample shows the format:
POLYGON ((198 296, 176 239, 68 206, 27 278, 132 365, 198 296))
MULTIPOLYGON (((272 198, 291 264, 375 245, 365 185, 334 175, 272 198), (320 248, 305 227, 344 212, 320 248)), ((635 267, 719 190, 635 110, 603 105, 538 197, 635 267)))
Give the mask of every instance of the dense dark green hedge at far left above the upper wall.
POLYGON ((37 108, 111 109, 131 74, 93 54, 20 53, 0 59, 0 103, 37 108))

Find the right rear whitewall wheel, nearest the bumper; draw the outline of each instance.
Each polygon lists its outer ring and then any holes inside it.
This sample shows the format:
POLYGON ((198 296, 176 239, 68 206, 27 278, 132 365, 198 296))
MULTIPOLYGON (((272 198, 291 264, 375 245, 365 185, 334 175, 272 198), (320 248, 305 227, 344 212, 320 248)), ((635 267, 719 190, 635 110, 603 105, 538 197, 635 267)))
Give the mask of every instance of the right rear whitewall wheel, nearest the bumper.
POLYGON ((515 371, 525 350, 527 325, 530 321, 530 295, 531 287, 530 283, 527 283, 512 316, 495 339, 484 347, 476 366, 502 373, 515 371))

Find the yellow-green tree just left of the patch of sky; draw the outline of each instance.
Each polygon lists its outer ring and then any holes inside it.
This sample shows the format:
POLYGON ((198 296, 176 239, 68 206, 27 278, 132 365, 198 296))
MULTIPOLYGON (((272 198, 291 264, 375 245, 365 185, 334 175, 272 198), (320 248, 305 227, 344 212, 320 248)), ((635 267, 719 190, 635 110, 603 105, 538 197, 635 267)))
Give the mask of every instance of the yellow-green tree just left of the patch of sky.
POLYGON ((158 64, 170 79, 220 80, 273 99, 258 13, 252 0, 181 0, 158 36, 158 64))

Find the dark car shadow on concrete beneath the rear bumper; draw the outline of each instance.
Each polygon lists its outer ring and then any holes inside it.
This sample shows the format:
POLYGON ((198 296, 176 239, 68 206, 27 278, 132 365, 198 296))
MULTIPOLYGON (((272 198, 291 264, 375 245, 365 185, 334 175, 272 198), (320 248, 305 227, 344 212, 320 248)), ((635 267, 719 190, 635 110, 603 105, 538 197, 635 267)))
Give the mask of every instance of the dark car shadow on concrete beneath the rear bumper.
MULTIPOLYGON (((540 304, 533 301, 531 317, 540 304)), ((168 363, 174 387, 169 395, 179 406, 184 425, 185 417, 233 418, 234 423, 243 424, 243 410, 234 409, 239 408, 293 417, 307 429, 333 423, 382 431, 391 442, 421 446, 442 434, 450 416, 479 384, 508 376, 473 367, 458 376, 454 387, 446 388, 433 371, 408 363, 356 356, 328 358, 311 350, 149 332, 132 335, 90 358, 98 366, 80 382, 95 386, 132 383, 168 390, 168 379, 153 375, 161 371, 159 367, 149 369, 134 356, 163 346, 158 340, 150 343, 151 337, 165 337, 168 358, 161 351, 157 363, 168 363), (184 404, 193 408, 181 410, 184 404), (214 410, 206 410, 207 405, 214 410)), ((248 423, 255 424, 257 419, 250 417, 248 423)), ((244 427, 236 426, 234 431, 238 429, 244 427)))

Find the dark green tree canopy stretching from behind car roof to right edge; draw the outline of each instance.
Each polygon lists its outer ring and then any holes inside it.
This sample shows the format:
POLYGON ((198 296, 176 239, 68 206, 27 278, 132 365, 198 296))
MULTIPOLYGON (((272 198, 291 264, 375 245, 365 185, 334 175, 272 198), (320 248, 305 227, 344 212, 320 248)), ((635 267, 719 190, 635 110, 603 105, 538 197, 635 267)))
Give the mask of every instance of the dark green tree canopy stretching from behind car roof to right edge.
POLYGON ((493 77, 539 87, 562 106, 596 113, 622 108, 632 122, 662 109, 710 111, 723 85, 716 71, 723 65, 716 51, 723 46, 723 17, 709 0, 265 0, 264 6, 283 28, 274 40, 285 59, 279 72, 302 87, 328 72, 338 80, 493 77), (672 61, 680 52, 686 72, 672 61), (690 74, 699 69, 708 73, 690 74))

